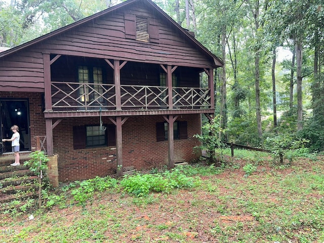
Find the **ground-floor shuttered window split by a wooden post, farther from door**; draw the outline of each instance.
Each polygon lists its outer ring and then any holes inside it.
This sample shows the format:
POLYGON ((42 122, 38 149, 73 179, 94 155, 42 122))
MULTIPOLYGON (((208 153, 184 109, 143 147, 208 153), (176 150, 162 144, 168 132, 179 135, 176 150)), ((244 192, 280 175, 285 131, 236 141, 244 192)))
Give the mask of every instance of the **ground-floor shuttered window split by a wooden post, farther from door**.
MULTIPOLYGON (((187 139, 187 121, 175 121, 173 124, 173 139, 187 139)), ((168 140, 168 123, 156 123, 156 141, 168 140)))

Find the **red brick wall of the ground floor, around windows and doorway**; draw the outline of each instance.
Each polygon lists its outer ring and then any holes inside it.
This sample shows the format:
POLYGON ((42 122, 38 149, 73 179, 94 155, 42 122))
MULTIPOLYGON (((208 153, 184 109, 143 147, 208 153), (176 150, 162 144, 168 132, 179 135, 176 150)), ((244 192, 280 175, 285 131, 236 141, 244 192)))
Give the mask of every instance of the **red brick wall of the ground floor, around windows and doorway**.
MULTIPOLYGON (((42 93, 0 92, 0 98, 28 98, 31 148, 36 148, 35 136, 46 136, 42 93)), ((193 147, 199 144, 194 134, 200 133, 200 114, 179 115, 177 121, 187 121, 188 139, 174 141, 175 161, 190 161, 198 155, 193 147)), ((53 123, 56 119, 53 119, 53 123)), ((102 117, 104 125, 111 124, 102 117)), ((123 166, 136 170, 154 164, 168 164, 168 141, 156 142, 156 123, 165 121, 160 115, 131 116, 122 127, 123 166)), ((65 118, 53 130, 54 154, 58 156, 60 182, 94 178, 116 173, 116 147, 73 149, 73 126, 99 125, 99 117, 65 118)))

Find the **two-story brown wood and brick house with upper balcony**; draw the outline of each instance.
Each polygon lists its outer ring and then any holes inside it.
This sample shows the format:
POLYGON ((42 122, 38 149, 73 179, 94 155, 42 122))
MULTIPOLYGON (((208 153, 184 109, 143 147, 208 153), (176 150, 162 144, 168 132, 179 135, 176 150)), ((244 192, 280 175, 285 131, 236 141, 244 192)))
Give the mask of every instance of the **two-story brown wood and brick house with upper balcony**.
POLYGON ((151 0, 128 0, 0 53, 0 136, 18 125, 25 151, 41 137, 60 181, 172 168, 198 156, 222 65, 151 0))

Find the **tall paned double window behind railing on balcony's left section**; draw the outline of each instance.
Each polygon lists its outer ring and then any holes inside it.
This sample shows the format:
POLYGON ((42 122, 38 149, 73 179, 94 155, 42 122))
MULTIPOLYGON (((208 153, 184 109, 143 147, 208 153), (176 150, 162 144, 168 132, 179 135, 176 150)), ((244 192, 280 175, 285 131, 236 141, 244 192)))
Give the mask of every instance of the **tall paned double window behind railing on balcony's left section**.
MULTIPOLYGON (((100 94, 103 94, 103 75, 101 67, 88 67, 79 66, 78 67, 78 82, 85 84, 94 84, 92 89, 94 92, 89 91, 89 87, 80 87, 79 97, 82 102, 89 102, 90 100, 98 99, 100 94), (91 95, 89 95, 91 93, 91 95)), ((99 102, 103 102, 103 97, 98 99, 99 102)))

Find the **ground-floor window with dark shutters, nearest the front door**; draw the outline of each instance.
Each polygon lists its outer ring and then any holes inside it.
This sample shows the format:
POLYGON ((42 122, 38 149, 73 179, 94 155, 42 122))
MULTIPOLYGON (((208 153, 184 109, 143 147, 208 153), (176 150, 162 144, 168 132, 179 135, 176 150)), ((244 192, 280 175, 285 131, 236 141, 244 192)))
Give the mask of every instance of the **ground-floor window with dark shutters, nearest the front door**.
POLYGON ((114 125, 102 126, 101 128, 97 125, 73 127, 74 149, 105 146, 116 146, 116 129, 114 125))

